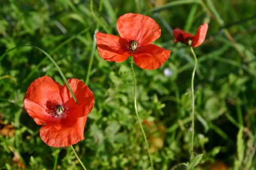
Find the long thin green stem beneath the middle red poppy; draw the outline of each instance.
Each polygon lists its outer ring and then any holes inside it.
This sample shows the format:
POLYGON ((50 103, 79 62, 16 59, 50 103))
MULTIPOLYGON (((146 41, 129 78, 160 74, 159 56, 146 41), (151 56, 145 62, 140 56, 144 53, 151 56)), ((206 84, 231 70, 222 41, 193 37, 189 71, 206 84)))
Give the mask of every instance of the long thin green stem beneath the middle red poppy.
POLYGON ((147 154, 148 154, 148 157, 150 157, 151 169, 153 170, 153 169, 154 169, 154 166, 153 166, 153 161, 152 161, 151 154, 150 154, 150 147, 148 147, 148 143, 147 143, 147 139, 146 139, 146 134, 145 134, 144 129, 143 129, 141 123, 140 123, 140 118, 139 118, 138 109, 137 109, 137 101, 136 101, 136 79, 135 79, 135 73, 134 73, 134 69, 133 69, 133 57, 131 57, 131 68, 132 68, 133 83, 134 83, 134 94, 133 94, 133 97, 134 97, 134 109, 135 109, 135 113, 136 113, 137 120, 138 120, 139 125, 140 125, 141 132, 142 132, 142 134, 143 134, 143 137, 144 137, 144 140, 145 140, 145 143, 146 143, 147 154))

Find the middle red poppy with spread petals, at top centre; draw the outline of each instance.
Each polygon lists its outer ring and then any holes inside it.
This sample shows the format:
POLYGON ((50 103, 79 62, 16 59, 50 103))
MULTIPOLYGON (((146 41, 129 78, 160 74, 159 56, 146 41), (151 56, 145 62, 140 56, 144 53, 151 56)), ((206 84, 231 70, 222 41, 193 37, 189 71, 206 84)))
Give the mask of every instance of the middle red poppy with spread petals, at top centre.
POLYGON ((117 20, 121 37, 97 32, 99 55, 106 61, 123 62, 129 56, 143 69, 156 69, 169 57, 170 51, 151 44, 161 35, 161 29, 151 17, 127 13, 117 20))

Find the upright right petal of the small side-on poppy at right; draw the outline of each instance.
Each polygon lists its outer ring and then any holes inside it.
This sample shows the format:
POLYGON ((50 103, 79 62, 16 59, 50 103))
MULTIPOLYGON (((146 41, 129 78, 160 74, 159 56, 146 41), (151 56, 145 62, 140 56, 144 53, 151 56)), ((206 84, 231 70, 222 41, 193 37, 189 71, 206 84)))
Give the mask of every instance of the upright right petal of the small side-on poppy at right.
POLYGON ((193 39, 193 47, 197 47, 199 45, 201 45, 204 42, 206 33, 208 30, 208 24, 204 23, 203 25, 201 25, 198 30, 197 30, 197 34, 195 35, 194 39, 193 39))

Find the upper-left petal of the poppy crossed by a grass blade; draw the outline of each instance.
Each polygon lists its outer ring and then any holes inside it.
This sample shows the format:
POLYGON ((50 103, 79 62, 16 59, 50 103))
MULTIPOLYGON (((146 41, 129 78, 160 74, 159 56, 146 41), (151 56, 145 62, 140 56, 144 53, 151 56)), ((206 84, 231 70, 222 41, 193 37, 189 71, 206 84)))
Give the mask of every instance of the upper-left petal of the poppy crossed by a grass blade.
POLYGON ((24 108, 37 124, 46 123, 48 102, 62 103, 59 95, 61 85, 52 78, 44 76, 36 79, 29 86, 24 97, 24 108))

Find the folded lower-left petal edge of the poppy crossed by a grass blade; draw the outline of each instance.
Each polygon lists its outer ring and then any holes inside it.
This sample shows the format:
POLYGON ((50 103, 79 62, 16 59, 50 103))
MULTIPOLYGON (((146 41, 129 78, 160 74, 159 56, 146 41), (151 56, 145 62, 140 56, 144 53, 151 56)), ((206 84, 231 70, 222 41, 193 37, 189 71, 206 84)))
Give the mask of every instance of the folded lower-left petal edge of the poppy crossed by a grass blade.
POLYGON ((35 103, 34 101, 25 99, 24 109, 34 119, 37 125, 52 125, 56 129, 59 129, 61 127, 60 119, 54 118, 46 111, 45 107, 39 105, 38 103, 35 103))

